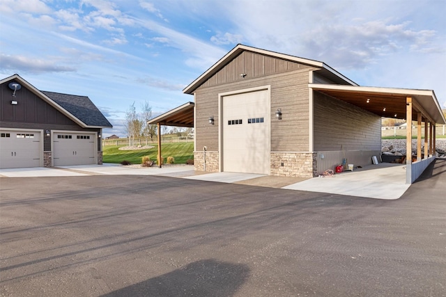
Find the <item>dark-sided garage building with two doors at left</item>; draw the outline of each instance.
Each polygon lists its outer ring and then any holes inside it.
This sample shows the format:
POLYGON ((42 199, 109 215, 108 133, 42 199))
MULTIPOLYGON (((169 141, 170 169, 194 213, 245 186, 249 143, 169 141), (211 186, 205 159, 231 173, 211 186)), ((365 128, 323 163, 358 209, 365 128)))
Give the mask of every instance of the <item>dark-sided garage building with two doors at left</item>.
POLYGON ((18 74, 0 81, 0 168, 102 164, 112 125, 89 97, 40 91, 18 74))

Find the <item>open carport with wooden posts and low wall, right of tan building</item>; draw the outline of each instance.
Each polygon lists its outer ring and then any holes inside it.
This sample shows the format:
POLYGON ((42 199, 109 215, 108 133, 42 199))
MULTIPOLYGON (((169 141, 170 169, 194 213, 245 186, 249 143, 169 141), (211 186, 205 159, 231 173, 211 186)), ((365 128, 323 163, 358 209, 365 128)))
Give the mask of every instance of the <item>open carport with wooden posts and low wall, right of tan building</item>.
POLYGON ((397 118, 408 123, 406 155, 412 156, 412 125, 417 122, 417 159, 408 157, 406 184, 412 184, 435 159, 436 124, 446 120, 433 90, 377 88, 309 83, 312 90, 353 104, 384 118, 397 118), (424 152, 422 152, 422 123, 424 122, 424 152))

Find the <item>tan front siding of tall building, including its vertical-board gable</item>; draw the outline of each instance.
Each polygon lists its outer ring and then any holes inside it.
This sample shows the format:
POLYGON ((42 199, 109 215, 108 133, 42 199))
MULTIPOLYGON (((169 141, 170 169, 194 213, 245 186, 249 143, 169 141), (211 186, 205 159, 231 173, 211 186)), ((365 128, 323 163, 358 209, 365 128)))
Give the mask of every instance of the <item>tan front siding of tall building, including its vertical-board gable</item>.
POLYGON ((218 95, 270 86, 271 151, 307 151, 309 71, 315 67, 244 52, 195 91, 196 151, 218 151, 218 95), (245 78, 241 73, 247 74, 245 78), (282 109, 282 120, 275 116, 282 109), (215 125, 208 118, 213 116, 215 125))

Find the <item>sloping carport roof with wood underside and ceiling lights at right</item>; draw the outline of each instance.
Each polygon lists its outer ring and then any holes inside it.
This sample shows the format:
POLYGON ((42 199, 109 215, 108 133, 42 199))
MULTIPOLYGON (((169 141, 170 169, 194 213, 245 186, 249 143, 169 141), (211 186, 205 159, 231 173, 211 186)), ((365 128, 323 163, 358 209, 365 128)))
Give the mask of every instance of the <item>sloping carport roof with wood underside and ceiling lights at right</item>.
POLYGON ((413 99, 413 112, 429 122, 446 125, 445 116, 433 90, 378 88, 309 83, 309 88, 353 104, 385 118, 406 119, 406 98, 413 99), (369 99, 369 100, 367 100, 369 99), (368 101, 368 103, 367 103, 368 101))

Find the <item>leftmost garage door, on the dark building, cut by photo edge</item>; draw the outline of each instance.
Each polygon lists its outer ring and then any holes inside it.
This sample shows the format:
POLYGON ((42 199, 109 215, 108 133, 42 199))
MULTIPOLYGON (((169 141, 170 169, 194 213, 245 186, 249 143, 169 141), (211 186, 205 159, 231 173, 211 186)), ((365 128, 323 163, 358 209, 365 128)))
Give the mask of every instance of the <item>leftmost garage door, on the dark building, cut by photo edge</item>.
POLYGON ((40 131, 0 129, 0 168, 26 168, 43 165, 40 131))

